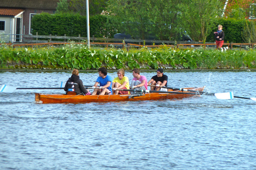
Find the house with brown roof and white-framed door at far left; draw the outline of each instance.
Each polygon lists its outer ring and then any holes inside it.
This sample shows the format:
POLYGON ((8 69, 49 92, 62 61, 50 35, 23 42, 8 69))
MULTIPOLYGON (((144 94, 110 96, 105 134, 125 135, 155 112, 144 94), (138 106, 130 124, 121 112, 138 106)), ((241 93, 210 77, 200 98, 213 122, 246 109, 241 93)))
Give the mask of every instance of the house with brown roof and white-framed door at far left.
MULTIPOLYGON (((31 34, 31 20, 42 12, 54 14, 60 0, 0 0, 0 37, 9 42, 22 42, 31 34)), ((43 26, 43 25, 42 25, 43 26)))

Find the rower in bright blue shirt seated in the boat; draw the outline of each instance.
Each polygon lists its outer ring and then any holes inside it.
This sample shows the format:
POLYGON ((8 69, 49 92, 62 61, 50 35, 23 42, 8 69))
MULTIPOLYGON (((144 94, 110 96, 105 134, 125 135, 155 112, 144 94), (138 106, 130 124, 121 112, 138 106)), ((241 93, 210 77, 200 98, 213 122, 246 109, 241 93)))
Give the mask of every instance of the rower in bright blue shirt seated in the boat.
POLYGON ((98 71, 99 77, 97 78, 95 84, 92 86, 92 89, 94 89, 92 95, 112 94, 112 78, 111 76, 107 75, 107 69, 105 67, 101 67, 98 71), (96 88, 99 83, 100 88, 96 88))

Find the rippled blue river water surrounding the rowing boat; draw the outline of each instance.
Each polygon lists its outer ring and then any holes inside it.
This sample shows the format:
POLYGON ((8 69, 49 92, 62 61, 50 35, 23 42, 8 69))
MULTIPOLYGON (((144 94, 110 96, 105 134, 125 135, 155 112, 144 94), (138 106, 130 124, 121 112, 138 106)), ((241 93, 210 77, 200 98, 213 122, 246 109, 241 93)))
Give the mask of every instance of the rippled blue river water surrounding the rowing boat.
MULTIPOLYGON (((256 97, 256 71, 166 70, 168 86, 256 97)), ((116 77, 116 71, 108 73, 116 77)), ((143 71, 148 79, 155 71, 143 71)), ((59 87, 70 70, 2 70, 0 85, 59 87)), ((126 76, 132 80, 132 72, 126 76)), ((80 71, 85 85, 98 73, 80 71)), ((34 92, 0 93, 1 170, 256 169, 256 101, 183 100, 36 104, 34 92)))

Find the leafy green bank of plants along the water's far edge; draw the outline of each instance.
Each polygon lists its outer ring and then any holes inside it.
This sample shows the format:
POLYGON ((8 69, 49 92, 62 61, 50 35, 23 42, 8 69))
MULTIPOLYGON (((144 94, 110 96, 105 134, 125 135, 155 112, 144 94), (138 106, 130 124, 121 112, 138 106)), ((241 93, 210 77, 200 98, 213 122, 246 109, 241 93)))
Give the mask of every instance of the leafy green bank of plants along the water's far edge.
POLYGON ((97 69, 217 69, 256 68, 254 50, 204 49, 87 49, 86 45, 61 47, 12 48, 0 47, 0 68, 46 68, 82 70, 97 69))

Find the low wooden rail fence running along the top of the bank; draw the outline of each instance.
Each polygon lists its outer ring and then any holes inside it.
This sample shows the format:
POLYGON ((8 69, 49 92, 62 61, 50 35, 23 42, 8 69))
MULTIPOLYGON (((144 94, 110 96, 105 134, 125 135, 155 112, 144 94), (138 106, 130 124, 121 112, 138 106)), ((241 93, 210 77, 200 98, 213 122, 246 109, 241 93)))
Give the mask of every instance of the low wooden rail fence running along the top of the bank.
MULTIPOLYGON (((75 43, 84 43, 86 44, 87 37, 70 37, 70 36, 55 36, 55 35, 24 35, 23 43, 12 44, 6 43, 6 45, 12 45, 14 48, 18 46, 33 46, 36 45, 62 45, 68 44, 70 41, 75 40, 78 42, 75 43), (40 40, 44 39, 44 40, 40 40), (62 41, 54 41, 54 39, 62 41), (82 42, 81 42, 82 41, 82 42)), ((131 47, 160 47, 163 44, 167 47, 177 47, 177 48, 198 48, 206 47, 216 48, 216 43, 202 43, 194 41, 164 41, 164 40, 142 40, 142 39, 114 39, 114 38, 96 38, 90 37, 91 45, 99 45, 108 48, 108 46, 121 47, 123 49, 129 50, 131 47), (96 42, 98 41, 98 42, 96 42), (158 44, 158 45, 149 45, 149 44, 158 44)), ((72 42, 74 43, 74 42, 72 42)), ((224 46, 228 46, 229 49, 235 47, 240 47, 240 49, 249 47, 254 48, 255 43, 224 43, 224 46)))

